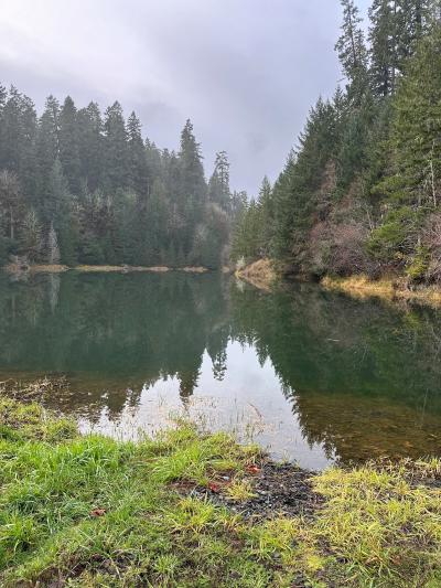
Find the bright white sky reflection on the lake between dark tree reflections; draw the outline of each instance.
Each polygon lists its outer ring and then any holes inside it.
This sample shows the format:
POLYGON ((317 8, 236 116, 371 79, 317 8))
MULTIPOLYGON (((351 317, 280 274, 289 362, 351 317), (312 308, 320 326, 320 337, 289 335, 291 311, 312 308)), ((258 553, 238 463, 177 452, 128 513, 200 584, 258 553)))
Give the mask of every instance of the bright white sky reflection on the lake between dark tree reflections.
MULTIPOLYGON (((184 406, 179 388, 175 377, 158 381, 142 391, 138 406, 126 404, 112 421, 104 410, 93 429, 127 438, 139 430, 152 434, 170 426, 173 416, 186 415, 211 430, 229 430, 240 440, 259 442, 275 458, 294 460, 311 469, 329 463, 320 446, 310 446, 303 439, 271 362, 267 360, 260 366, 249 345, 228 344, 227 370, 222 382, 213 376, 212 361, 205 352, 197 386, 184 406)), ((82 419, 80 426, 83 430, 90 428, 86 419, 82 419)))

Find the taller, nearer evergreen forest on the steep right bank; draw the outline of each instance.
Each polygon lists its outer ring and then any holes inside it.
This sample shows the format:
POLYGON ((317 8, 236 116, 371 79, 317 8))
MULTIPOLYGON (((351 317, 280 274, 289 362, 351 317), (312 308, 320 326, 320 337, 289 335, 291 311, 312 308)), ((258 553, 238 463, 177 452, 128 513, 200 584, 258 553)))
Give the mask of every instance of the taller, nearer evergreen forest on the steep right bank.
POLYGON ((233 258, 314 279, 441 284, 441 9, 342 0, 344 86, 319 98, 273 185, 240 214, 233 258))

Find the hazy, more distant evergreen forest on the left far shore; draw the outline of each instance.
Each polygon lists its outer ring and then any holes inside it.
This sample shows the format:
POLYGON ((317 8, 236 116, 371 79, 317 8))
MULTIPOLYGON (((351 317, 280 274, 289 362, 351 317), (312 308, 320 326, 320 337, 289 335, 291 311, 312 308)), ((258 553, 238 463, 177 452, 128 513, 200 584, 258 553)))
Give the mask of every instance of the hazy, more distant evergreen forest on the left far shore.
POLYGON ((103 116, 50 96, 39 117, 0 85, 0 265, 219 267, 246 194, 230 192, 225 151, 208 182, 202 160, 190 120, 174 152, 118 101, 103 116))

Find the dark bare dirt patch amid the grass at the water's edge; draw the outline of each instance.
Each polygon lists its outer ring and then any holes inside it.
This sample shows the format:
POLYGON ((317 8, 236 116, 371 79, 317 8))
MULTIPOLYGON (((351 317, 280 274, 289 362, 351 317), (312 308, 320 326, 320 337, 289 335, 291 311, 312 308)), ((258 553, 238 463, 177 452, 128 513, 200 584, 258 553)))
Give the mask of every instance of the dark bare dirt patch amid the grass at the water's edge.
POLYGON ((271 518, 276 515, 312 517, 324 500, 312 489, 310 480, 313 475, 314 472, 290 463, 265 462, 258 472, 247 473, 245 480, 250 482, 252 496, 240 502, 227 494, 232 483, 229 474, 214 479, 207 488, 185 480, 173 487, 184 495, 208 499, 246 518, 271 518))

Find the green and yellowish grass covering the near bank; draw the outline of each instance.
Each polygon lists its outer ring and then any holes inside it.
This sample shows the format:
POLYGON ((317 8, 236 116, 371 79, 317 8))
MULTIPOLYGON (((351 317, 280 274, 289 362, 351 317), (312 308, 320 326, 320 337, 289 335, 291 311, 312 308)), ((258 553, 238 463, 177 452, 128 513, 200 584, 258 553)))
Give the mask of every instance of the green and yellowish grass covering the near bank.
POLYGON ((139 443, 80 436, 0 396, 0 585, 441 586, 440 461, 319 474, 313 516, 250 520, 185 495, 252 500, 261 460, 185 424, 139 443))

